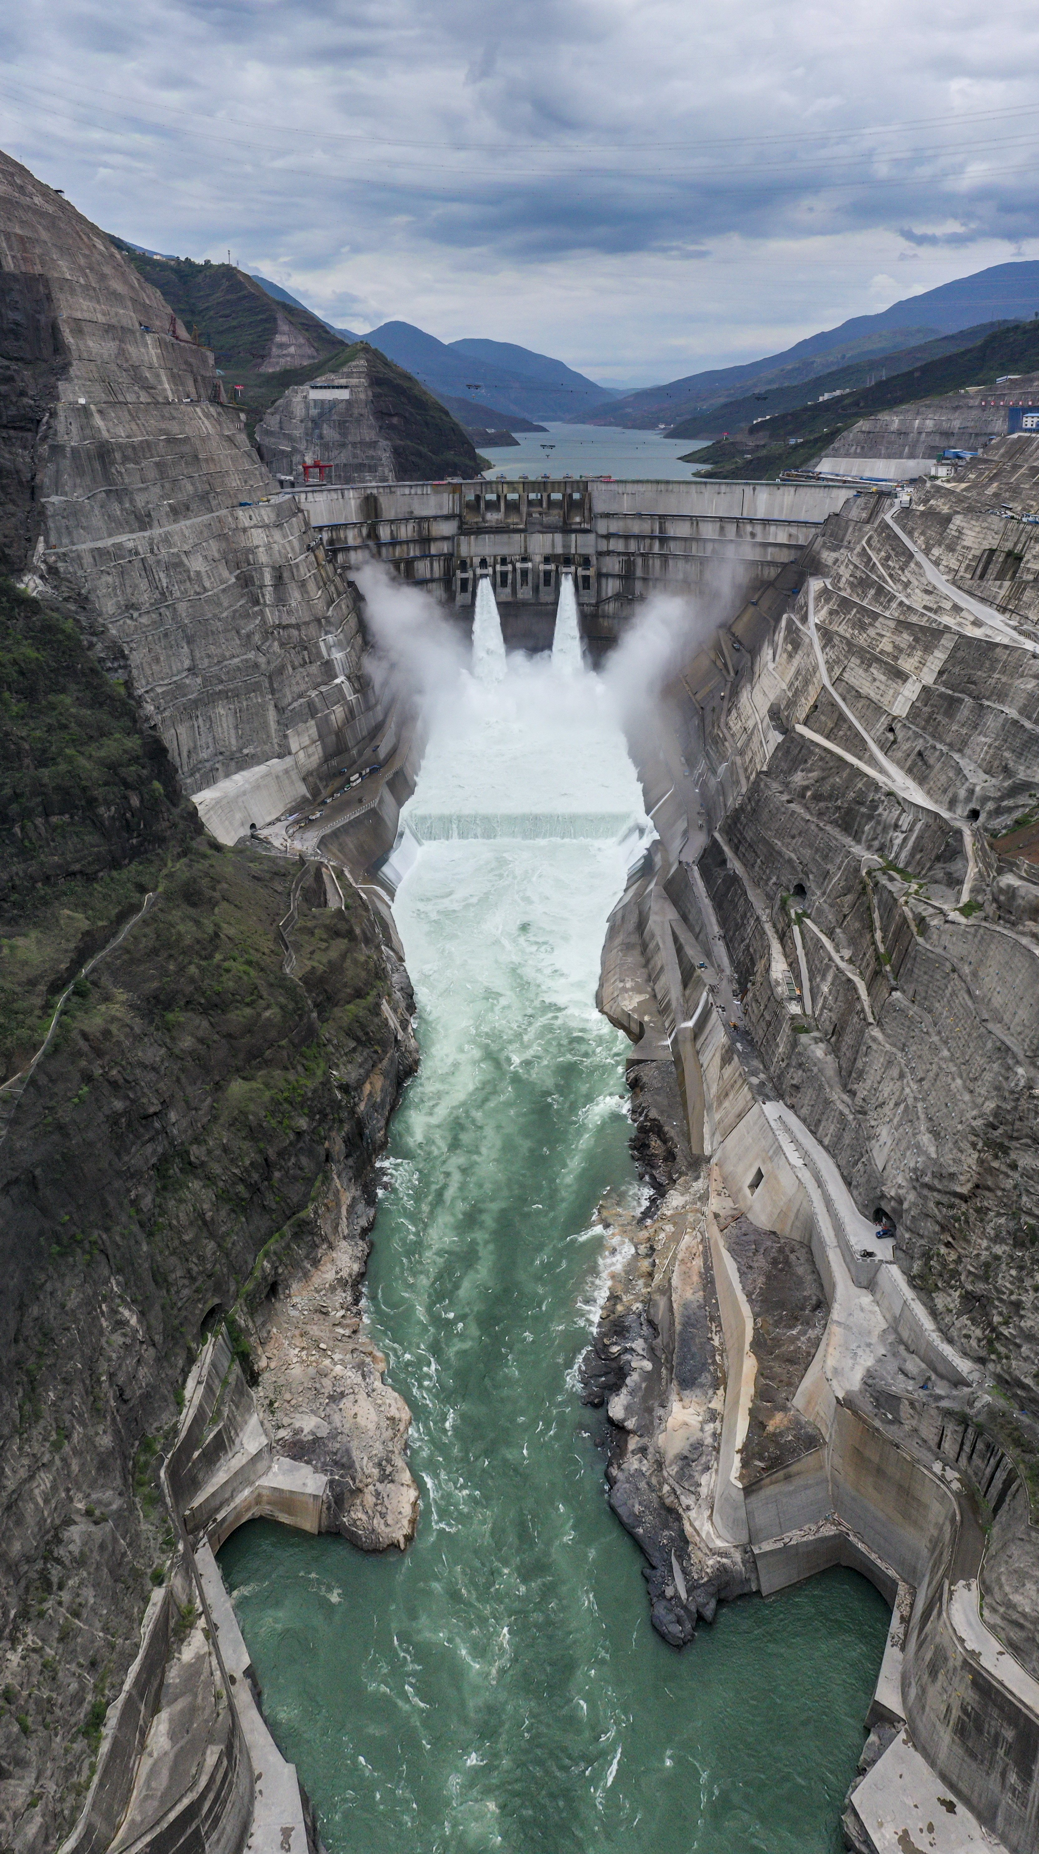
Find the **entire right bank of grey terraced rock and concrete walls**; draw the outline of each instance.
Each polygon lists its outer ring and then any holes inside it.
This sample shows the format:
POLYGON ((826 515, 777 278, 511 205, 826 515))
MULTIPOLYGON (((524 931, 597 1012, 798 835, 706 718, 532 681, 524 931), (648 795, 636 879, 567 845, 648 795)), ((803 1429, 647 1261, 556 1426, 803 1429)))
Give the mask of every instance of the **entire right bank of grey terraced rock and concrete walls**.
POLYGON ((876 1854, 1039 1832, 1039 884, 998 857, 1039 786, 1037 484, 1013 438, 911 508, 850 501, 683 664, 633 727, 661 842, 603 957, 705 1166, 657 1250, 651 1415, 610 1402, 618 1485, 685 1535, 655 1620, 829 1563, 885 1591, 846 1815, 876 1854), (1019 565, 981 588, 993 549, 1019 565))

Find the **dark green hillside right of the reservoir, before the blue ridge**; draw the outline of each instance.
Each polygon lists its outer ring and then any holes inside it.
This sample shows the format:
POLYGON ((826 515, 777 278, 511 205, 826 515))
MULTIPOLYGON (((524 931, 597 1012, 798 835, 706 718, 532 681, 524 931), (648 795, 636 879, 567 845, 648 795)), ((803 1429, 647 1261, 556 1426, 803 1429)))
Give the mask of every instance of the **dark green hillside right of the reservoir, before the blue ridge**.
POLYGON ((840 432, 870 413, 941 399, 965 386, 993 386, 1006 373, 1037 371, 1039 317, 996 328, 972 349, 909 367, 822 406, 816 400, 796 412, 766 417, 753 430, 724 438, 707 451, 694 451, 683 462, 707 464, 705 476, 770 480, 783 469, 805 469, 833 447, 840 432))

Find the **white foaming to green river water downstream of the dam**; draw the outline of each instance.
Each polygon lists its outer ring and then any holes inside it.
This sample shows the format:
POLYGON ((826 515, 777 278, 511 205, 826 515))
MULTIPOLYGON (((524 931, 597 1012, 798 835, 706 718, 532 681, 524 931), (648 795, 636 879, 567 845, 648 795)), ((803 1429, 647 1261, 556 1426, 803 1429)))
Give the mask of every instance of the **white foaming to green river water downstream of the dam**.
POLYGON ((596 1205, 640 1190, 594 1003, 640 794, 566 612, 555 667, 503 664, 481 617, 410 806, 421 1070, 367 1277, 417 1539, 366 1557, 262 1520, 221 1567, 330 1854, 829 1854, 887 1609, 837 1570, 681 1654, 649 1628, 573 1389, 596 1205))

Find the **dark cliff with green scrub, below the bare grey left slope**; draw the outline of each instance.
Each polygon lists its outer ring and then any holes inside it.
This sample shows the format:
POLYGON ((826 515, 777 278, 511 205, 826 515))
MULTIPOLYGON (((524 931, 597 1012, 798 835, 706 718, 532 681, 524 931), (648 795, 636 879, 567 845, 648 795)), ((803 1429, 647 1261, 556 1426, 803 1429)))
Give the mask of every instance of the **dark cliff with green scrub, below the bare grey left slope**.
POLYGON ((408 1413, 358 1296, 416 1048, 345 873, 221 849, 76 614, 7 588, 0 619, 0 1821, 45 1848, 171 1576, 156 1474, 206 1331, 228 1320, 284 1457, 323 1439, 327 1522, 410 1537, 408 1413))

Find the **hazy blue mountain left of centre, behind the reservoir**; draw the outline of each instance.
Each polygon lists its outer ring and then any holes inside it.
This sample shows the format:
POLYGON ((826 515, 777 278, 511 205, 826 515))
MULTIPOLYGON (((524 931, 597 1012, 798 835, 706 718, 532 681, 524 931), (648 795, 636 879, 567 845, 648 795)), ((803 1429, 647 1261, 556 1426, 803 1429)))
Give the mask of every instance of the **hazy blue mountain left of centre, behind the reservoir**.
POLYGON ((464 399, 486 413, 481 389, 499 413, 525 419, 583 417, 616 397, 549 354, 534 354, 508 341, 438 341, 412 323, 382 323, 366 337, 399 367, 406 367, 440 399, 464 399))

